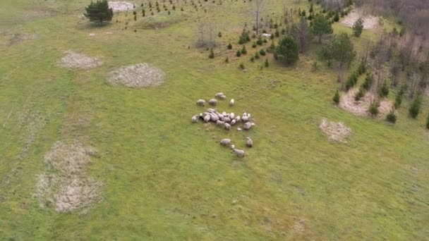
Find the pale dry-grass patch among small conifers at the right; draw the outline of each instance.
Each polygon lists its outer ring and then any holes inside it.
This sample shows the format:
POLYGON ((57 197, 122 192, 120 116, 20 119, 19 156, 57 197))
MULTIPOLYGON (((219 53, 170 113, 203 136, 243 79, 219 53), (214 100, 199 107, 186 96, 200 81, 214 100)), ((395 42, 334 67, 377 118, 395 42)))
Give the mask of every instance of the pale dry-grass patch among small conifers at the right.
MULTIPOLYGON (((354 97, 358 89, 350 89, 349 92, 342 95, 339 101, 339 107, 354 113, 356 116, 369 116, 368 109, 370 104, 375 101, 375 96, 371 92, 366 92, 365 96, 359 101, 356 101, 354 97)), ((380 101, 380 107, 378 107, 379 116, 384 117, 393 109, 392 101, 383 99, 380 101)))

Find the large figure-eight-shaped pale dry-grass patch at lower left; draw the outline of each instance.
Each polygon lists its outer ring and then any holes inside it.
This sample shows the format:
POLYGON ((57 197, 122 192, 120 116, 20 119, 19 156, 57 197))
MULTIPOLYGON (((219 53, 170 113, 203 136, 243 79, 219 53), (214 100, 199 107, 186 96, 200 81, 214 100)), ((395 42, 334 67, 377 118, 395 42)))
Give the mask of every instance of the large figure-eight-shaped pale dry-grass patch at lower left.
POLYGON ((99 202, 102 183, 84 173, 93 155, 96 155, 94 149, 78 142, 56 142, 44 156, 49 173, 39 175, 37 180, 40 206, 54 206, 56 211, 65 213, 99 202))

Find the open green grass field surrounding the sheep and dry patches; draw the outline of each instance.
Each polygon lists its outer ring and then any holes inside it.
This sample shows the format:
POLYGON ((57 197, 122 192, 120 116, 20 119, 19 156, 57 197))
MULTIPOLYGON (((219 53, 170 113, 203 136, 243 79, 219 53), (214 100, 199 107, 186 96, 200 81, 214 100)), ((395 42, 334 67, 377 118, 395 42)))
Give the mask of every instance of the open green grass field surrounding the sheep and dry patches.
MULTIPOLYGON (((249 61, 255 51, 250 44, 249 54, 236 58, 238 33, 243 23, 253 23, 249 3, 207 3, 207 13, 185 8, 186 20, 158 30, 143 30, 140 20, 122 30, 124 13, 121 23, 115 18, 92 27, 80 18, 87 1, 8 4, 0 19, 33 5, 55 11, 0 25, 37 35, 0 45, 1 239, 428 237, 429 135, 423 120, 428 106, 411 120, 406 101, 396 125, 358 118, 332 105, 335 70, 321 65, 313 71, 311 52, 287 68, 269 56, 270 67, 263 70, 265 58, 249 61), (195 48, 197 19, 216 23, 223 34, 213 60, 195 48), (68 49, 102 56, 104 65, 88 71, 59 68, 56 63, 68 49), (230 63, 224 63, 226 56, 230 63), (162 68, 164 85, 108 84, 111 70, 140 62, 162 68), (204 110, 195 101, 217 92, 236 99, 234 107, 220 101, 220 111, 250 112, 255 128, 226 132, 191 124, 191 116, 204 110), (328 142, 318 128, 322 118, 349 126, 348 143, 328 142), (244 149, 246 135, 255 146, 245 149, 243 159, 219 146, 229 137, 244 149), (103 201, 86 212, 57 214, 41 209, 35 197, 37 175, 47 171, 44 154, 58 140, 79 140, 99 151, 87 173, 104 182, 103 201)), ((266 11, 279 16, 282 8, 281 1, 272 1, 266 11)), ((363 39, 355 39, 358 49, 375 34, 365 31, 363 39)))

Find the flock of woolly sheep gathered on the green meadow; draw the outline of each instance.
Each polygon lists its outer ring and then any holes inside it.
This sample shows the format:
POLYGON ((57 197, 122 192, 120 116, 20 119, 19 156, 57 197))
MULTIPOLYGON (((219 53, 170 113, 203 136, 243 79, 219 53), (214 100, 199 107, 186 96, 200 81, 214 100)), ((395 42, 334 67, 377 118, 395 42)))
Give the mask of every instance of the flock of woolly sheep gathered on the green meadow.
MULTIPOLYGON (((214 95, 215 98, 220 100, 225 100, 226 95, 222 92, 219 92, 214 95)), ((211 106, 217 106, 217 99, 210 99, 208 103, 211 106)), ((198 106, 205 106, 206 101, 204 99, 198 99, 197 105, 198 106)), ((234 106, 235 101, 234 99, 231 99, 229 101, 229 106, 234 106)), ((198 115, 192 116, 192 123, 198 123, 198 120, 204 121, 205 123, 216 123, 216 125, 222 126, 225 130, 231 130, 231 127, 233 125, 238 125, 238 123, 243 123, 243 129, 244 130, 250 130, 255 123, 250 121, 250 113, 243 112, 243 115, 235 115, 235 113, 226 113, 219 112, 217 109, 207 109, 207 111, 200 113, 198 115)), ((237 127, 238 131, 241 131, 242 129, 240 127, 237 127)), ((220 141, 220 144, 224 147, 231 147, 232 152, 236 154, 237 156, 244 156, 244 151, 240 149, 236 149, 234 144, 231 144, 230 139, 223 139, 220 141)), ((250 137, 246 137, 246 146, 247 147, 253 147, 253 140, 250 137)))

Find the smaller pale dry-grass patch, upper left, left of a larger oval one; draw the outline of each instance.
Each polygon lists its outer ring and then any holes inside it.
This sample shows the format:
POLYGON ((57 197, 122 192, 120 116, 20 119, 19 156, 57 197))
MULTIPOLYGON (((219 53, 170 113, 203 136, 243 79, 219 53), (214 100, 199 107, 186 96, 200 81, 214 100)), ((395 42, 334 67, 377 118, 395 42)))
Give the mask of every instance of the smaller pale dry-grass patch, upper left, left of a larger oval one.
POLYGON ((64 54, 66 54, 66 56, 61 58, 59 63, 59 66, 63 68, 82 68, 87 70, 103 64, 98 57, 85 56, 71 50, 65 51, 64 54))

